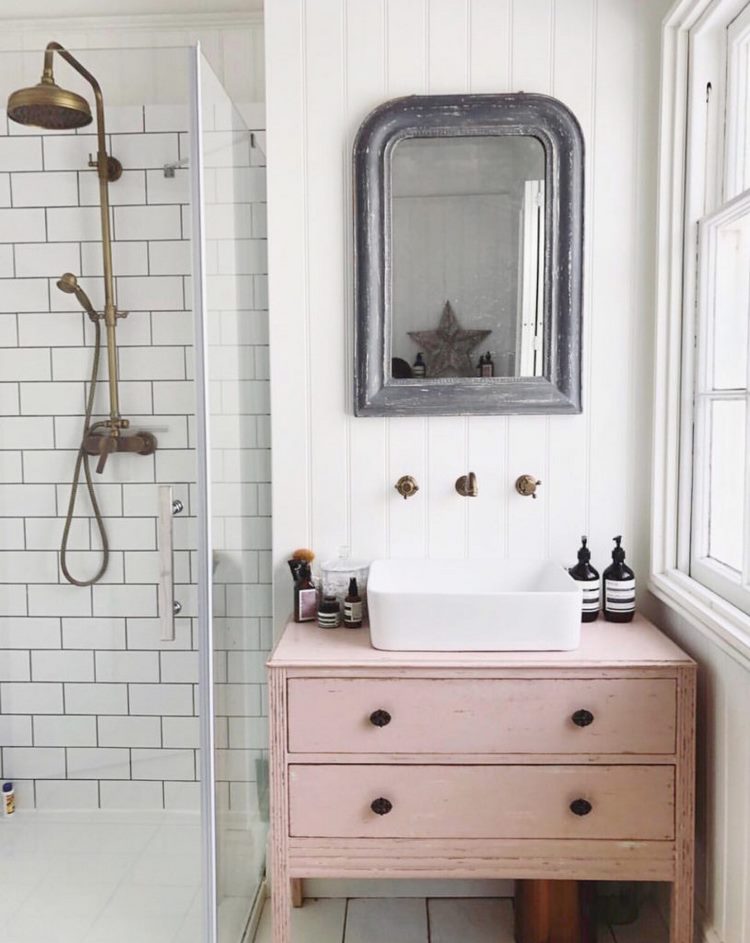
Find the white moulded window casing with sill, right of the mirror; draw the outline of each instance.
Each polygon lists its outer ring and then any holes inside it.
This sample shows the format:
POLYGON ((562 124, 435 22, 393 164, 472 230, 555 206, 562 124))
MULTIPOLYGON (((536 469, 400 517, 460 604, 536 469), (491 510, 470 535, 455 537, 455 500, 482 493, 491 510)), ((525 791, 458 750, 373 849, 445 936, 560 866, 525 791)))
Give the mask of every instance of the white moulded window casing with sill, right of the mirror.
POLYGON ((689 575, 698 220, 735 179, 731 132, 724 154, 726 30, 747 3, 678 0, 663 26, 649 588, 750 665, 750 616, 689 575))

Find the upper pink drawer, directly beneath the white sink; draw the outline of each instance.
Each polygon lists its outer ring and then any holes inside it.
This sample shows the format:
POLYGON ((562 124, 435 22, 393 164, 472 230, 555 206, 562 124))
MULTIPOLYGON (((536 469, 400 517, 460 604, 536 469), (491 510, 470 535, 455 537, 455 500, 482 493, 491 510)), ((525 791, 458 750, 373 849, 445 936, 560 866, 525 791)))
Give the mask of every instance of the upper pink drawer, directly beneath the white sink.
POLYGON ((672 679, 292 678, 288 685, 291 753, 675 749, 672 679))

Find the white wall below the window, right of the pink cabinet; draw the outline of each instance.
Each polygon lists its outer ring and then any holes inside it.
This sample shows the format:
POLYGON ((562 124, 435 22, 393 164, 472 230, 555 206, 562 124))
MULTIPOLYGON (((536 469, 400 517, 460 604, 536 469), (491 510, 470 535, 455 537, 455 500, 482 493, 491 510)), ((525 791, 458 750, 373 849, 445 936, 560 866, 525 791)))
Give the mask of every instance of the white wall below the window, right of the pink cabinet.
POLYGON ((740 943, 750 939, 750 661, 647 598, 649 615, 700 666, 696 919, 703 943, 740 943))

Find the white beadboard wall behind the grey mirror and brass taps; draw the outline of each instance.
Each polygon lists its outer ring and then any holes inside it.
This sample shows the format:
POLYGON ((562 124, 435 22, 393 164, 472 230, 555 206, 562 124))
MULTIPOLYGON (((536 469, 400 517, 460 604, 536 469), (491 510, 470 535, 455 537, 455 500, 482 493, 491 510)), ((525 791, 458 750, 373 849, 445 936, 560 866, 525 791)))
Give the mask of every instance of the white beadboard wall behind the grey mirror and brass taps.
POLYGON ((266 10, 275 613, 285 560, 545 554, 647 573, 660 21, 667 0, 275 0, 266 10), (352 416, 357 128, 425 92, 557 96, 586 141, 580 416, 352 416), (479 497, 454 490, 474 471, 479 497), (539 500, 513 482, 539 477, 539 500), (420 484, 404 501, 402 474, 420 484))

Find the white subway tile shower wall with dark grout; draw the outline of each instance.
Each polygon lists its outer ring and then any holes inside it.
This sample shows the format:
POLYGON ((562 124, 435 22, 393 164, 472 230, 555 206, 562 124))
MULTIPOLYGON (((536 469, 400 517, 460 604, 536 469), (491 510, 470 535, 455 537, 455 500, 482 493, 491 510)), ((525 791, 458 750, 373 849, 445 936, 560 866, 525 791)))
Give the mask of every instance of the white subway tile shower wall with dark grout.
MULTIPOLYGON (((108 109, 107 124, 111 152, 124 165, 110 188, 116 291, 129 312, 118 326, 121 405, 132 428, 153 432, 159 448, 152 457, 110 458, 97 484, 111 563, 101 583, 82 589, 64 581, 58 548, 93 330, 55 282, 64 271, 80 274, 93 303, 102 304, 98 186, 88 168, 94 140, 32 129, 19 135, 0 114, 0 776, 17 783, 21 804, 41 809, 196 809, 190 181, 186 169, 171 178, 163 172, 187 153, 186 115, 161 105, 117 106, 108 109), (174 522, 176 595, 183 603, 174 642, 159 637, 158 482, 173 484, 185 505, 174 522)), ((217 147, 231 141, 218 131, 215 137, 217 147)), ((231 160, 237 150, 231 148, 231 160)), ((264 776, 262 665, 271 635, 259 155, 248 149, 240 171, 226 166, 230 159, 206 170, 209 336, 221 381, 212 417, 222 548, 218 792, 225 808, 240 811, 257 801, 254 783, 264 776), (234 209, 233 200, 246 205, 234 209), (223 241, 239 235, 234 245, 223 241), (248 579, 259 585, 243 588, 248 579)), ((96 408, 107 411, 106 382, 96 408)), ((83 573, 98 559, 91 515, 81 493, 70 562, 83 573)))

